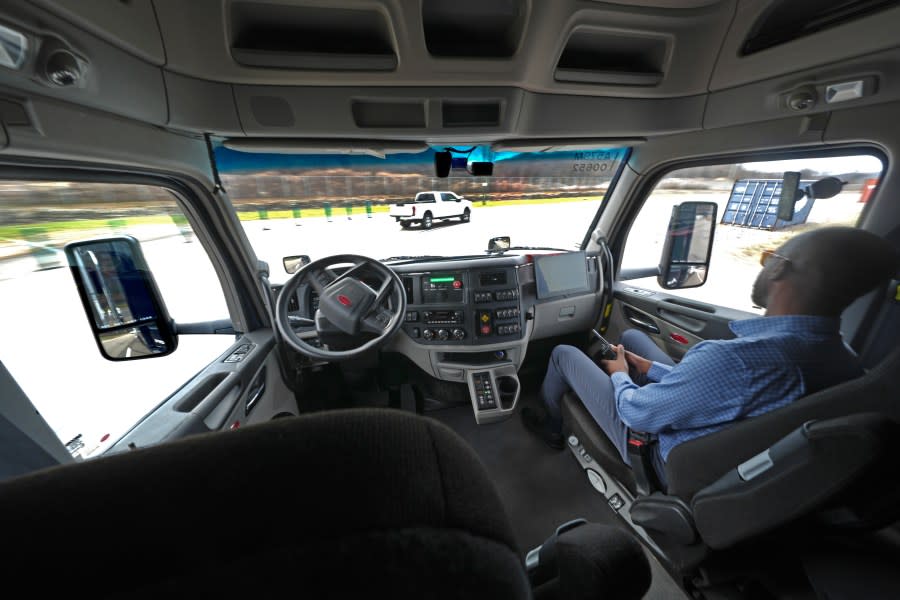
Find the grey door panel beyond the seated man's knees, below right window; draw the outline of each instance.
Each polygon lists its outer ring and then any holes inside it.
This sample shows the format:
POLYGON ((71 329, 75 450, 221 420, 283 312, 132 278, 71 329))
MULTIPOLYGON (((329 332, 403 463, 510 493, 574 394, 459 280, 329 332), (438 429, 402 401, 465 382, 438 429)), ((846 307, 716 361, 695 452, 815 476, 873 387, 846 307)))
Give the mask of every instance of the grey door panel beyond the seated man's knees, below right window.
POLYGON ((615 283, 613 299, 610 340, 625 329, 639 329, 676 361, 703 340, 733 338, 731 321, 756 316, 623 282, 615 283))

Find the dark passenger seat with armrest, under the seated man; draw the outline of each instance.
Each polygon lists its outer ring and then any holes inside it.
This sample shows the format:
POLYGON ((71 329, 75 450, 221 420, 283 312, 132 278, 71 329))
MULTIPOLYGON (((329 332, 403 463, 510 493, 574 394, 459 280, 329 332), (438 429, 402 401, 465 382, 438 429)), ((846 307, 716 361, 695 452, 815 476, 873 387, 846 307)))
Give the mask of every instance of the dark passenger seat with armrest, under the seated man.
POLYGON ((887 500, 900 498, 900 484, 885 471, 900 435, 898 371, 900 347, 861 377, 679 444, 666 461, 667 489, 649 494, 636 493, 642 487, 635 486, 636 472, 574 394, 563 398, 564 431, 630 492, 631 520, 687 572, 710 550, 735 548, 805 518, 817 523, 816 532, 830 528, 837 535, 875 531, 900 518, 887 500), (875 485, 881 501, 871 505, 866 492, 851 492, 875 485))

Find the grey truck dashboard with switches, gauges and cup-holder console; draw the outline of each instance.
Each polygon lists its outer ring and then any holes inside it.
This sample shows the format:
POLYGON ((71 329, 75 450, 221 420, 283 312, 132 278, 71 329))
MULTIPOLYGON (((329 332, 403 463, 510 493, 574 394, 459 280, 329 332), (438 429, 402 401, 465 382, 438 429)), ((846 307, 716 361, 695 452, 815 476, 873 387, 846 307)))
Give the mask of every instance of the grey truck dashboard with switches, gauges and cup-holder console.
MULTIPOLYGON (((406 314, 384 351, 405 355, 437 379, 467 384, 477 422, 508 417, 528 343, 587 331, 601 310, 599 260, 564 254, 391 263, 403 282, 406 314)), ((288 310, 313 318, 312 287, 299 286, 288 310)))

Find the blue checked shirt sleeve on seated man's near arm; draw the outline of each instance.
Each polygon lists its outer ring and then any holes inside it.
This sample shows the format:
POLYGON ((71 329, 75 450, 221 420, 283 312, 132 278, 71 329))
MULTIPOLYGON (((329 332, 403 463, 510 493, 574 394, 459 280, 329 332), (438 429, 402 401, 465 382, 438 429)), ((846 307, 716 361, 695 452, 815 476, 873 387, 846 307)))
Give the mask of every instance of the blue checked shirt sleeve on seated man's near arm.
POLYGON ((701 342, 657 383, 640 387, 626 373, 614 373, 611 380, 622 422, 635 431, 660 433, 738 418, 750 387, 746 372, 730 348, 701 342))

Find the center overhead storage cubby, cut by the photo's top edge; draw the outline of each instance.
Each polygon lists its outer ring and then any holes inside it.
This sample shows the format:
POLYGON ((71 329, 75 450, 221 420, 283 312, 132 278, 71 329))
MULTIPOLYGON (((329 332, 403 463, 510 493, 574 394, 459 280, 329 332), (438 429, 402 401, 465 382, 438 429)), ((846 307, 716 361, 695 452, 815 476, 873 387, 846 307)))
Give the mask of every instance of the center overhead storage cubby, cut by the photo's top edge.
POLYGON ((525 5, 525 0, 422 0, 428 52, 447 58, 509 58, 519 47, 525 5))

